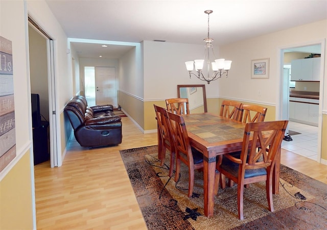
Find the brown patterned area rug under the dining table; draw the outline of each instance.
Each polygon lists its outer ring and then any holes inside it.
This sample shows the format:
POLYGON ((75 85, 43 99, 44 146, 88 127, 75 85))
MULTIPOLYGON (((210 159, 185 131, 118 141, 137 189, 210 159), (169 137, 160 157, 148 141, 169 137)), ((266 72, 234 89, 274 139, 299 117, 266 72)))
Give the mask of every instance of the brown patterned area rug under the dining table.
MULTIPOLYGON (((244 220, 238 219, 237 185, 219 189, 214 216, 203 210, 203 174, 195 172, 193 196, 187 196, 188 168, 180 180, 169 177, 169 158, 160 166, 157 146, 121 150, 121 156, 148 229, 327 229, 327 186, 281 165, 275 211, 268 210, 265 183, 244 192, 244 220)), ((166 154, 169 156, 169 154, 166 154)), ((173 175, 174 176, 174 175, 173 175)))

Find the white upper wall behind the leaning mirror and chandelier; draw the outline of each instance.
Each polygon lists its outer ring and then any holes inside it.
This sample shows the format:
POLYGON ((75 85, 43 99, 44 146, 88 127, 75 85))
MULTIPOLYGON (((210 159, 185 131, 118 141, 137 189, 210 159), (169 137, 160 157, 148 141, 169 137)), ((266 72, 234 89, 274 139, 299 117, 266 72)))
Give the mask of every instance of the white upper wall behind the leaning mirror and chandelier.
MULTIPOLYGON (((216 58, 220 58, 215 47, 216 58)), ((204 58, 202 45, 144 41, 144 88, 146 100, 177 97, 177 85, 205 84, 207 98, 218 97, 220 80, 209 85, 190 79, 185 62, 204 58)))

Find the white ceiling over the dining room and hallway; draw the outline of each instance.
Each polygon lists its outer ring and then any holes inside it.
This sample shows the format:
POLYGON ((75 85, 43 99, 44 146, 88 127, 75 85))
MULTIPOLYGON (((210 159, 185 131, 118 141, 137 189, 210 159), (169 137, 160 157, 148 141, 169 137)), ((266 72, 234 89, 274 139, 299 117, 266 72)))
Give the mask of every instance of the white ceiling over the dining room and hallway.
MULTIPOLYGON (((327 18, 327 0, 46 0, 69 38, 204 44, 210 14, 213 45, 327 18)), ((305 33, 305 32, 303 32, 305 33)), ((119 58, 130 45, 73 43, 80 57, 119 58)))

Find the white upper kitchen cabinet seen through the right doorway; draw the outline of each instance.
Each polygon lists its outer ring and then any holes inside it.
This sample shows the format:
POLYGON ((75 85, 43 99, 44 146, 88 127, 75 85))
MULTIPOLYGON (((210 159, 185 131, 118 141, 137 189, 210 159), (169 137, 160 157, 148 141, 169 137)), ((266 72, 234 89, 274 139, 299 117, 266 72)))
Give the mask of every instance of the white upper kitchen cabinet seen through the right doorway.
POLYGON ((319 81, 320 58, 296 59, 291 62, 291 81, 319 81))

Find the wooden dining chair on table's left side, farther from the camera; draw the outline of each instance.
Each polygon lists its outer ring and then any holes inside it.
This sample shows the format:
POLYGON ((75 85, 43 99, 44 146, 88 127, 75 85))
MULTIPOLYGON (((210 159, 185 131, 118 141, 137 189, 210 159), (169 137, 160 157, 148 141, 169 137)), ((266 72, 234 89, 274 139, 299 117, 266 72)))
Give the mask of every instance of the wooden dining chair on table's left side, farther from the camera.
POLYGON ((164 165, 166 159, 166 150, 170 151, 169 176, 173 175, 175 163, 175 145, 169 130, 166 109, 153 105, 158 125, 158 159, 160 165, 164 165))

